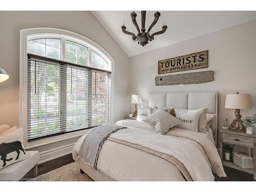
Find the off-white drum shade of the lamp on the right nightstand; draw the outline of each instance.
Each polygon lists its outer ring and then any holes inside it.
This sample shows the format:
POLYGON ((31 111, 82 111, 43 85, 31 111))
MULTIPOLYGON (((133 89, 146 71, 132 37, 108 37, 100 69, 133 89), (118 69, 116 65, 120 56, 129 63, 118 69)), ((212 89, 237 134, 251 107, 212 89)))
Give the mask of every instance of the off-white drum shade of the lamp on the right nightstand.
POLYGON ((225 108, 250 109, 250 94, 227 94, 225 108))

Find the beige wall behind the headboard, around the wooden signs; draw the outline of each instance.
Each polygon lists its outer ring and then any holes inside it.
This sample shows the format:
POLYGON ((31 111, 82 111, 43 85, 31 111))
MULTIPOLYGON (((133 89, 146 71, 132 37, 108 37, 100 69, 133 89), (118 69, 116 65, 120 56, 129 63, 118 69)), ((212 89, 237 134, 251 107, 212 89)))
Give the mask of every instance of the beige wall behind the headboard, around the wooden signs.
MULTIPOLYGON (((241 114, 245 117, 256 113, 255 56, 256 20, 133 56, 130 61, 130 95, 142 95, 143 102, 147 104, 148 94, 152 92, 218 91, 220 127, 223 124, 223 118, 227 118, 228 123, 234 118, 233 110, 224 108, 226 94, 237 91, 251 94, 252 109, 241 110, 241 114), (188 72, 213 70, 214 81, 201 84, 155 86, 158 60, 203 50, 209 50, 209 68, 188 72)), ((134 105, 130 106, 130 110, 134 110, 134 105)))

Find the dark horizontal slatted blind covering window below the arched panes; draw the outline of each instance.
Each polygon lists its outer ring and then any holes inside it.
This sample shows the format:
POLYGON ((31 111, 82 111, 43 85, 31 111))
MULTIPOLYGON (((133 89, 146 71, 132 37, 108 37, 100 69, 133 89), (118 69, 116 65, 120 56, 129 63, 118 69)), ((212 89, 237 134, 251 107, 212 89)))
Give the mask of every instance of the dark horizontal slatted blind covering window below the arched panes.
POLYGON ((28 54, 28 139, 111 119, 111 72, 28 54))

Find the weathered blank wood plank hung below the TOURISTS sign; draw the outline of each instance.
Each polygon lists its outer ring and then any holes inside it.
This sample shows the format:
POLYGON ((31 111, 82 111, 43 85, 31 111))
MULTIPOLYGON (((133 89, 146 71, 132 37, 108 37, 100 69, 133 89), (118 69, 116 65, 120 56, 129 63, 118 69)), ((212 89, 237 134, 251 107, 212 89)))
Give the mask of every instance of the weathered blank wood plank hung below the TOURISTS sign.
POLYGON ((156 86, 171 86, 173 84, 196 84, 214 80, 214 71, 200 71, 176 75, 157 76, 156 86))

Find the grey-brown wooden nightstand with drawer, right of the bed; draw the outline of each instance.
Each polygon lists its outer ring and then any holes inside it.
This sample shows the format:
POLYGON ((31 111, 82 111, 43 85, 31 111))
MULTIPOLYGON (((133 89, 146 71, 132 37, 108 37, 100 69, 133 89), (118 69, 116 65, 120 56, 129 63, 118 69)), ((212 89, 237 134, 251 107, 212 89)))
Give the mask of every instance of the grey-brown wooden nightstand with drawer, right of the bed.
POLYGON ((248 135, 246 133, 234 132, 230 130, 225 130, 221 128, 221 160, 222 164, 231 168, 235 168, 238 170, 242 170, 243 172, 247 172, 253 174, 254 180, 256 180, 256 135, 248 135), (223 158, 223 145, 230 144, 230 145, 237 145, 250 148, 250 156, 253 158, 253 168, 241 168, 240 166, 225 161, 223 158))

